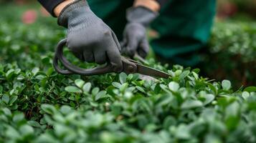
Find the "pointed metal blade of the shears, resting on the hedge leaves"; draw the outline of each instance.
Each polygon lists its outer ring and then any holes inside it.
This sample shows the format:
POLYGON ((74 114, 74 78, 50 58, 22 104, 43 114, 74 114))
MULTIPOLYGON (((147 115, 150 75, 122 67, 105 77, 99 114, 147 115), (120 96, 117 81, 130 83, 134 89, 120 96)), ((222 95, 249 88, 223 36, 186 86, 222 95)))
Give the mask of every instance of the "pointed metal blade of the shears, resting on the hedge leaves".
POLYGON ((165 79, 168 79, 170 77, 170 74, 167 74, 163 71, 159 71, 157 69, 153 69, 148 66, 143 66, 141 64, 137 64, 137 72, 139 74, 144 74, 144 75, 151 76, 151 77, 161 77, 161 78, 165 78, 165 79))

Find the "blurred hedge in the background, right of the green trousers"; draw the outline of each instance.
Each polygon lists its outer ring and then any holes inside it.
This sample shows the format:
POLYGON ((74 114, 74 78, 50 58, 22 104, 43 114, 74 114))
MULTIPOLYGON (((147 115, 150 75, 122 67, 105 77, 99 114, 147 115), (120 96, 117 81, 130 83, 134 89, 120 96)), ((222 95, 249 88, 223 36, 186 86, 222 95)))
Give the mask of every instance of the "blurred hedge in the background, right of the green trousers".
POLYGON ((202 67, 208 77, 230 79, 235 87, 256 84, 256 23, 217 22, 202 67), (212 63, 212 64, 208 64, 212 63))

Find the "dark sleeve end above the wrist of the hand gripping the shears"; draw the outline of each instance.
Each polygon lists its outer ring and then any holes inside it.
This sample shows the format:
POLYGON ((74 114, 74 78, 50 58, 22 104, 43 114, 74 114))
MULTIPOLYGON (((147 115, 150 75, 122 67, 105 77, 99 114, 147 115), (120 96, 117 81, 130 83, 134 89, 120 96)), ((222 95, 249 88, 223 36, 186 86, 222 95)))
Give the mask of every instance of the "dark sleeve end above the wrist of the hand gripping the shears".
POLYGON ((52 16, 55 17, 54 15, 54 8, 62 3, 62 1, 65 1, 65 0, 38 0, 40 4, 42 4, 42 6, 44 6, 44 8, 50 13, 52 14, 52 16))

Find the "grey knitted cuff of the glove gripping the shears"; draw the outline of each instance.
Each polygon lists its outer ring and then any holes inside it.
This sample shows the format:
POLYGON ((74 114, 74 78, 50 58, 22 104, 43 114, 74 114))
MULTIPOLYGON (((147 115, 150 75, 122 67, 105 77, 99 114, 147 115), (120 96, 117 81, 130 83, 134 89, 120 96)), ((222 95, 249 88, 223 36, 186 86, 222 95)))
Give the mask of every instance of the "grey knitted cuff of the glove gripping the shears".
POLYGON ((67 28, 69 19, 75 19, 75 17, 79 15, 80 11, 86 11, 86 7, 89 8, 86 0, 75 0, 71 4, 68 4, 60 12, 57 24, 67 28))

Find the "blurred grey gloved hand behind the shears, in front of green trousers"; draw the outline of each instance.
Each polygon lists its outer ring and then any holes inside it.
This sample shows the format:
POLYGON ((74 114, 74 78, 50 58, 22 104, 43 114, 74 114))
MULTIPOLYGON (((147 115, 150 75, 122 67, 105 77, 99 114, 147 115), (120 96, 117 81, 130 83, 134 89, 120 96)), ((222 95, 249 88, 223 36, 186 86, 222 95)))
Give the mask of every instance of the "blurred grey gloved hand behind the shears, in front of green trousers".
POLYGON ((158 14, 143 6, 128 9, 126 19, 128 24, 123 32, 121 42, 122 52, 134 56, 136 52, 145 58, 149 51, 149 44, 146 35, 146 27, 156 19, 158 14))

